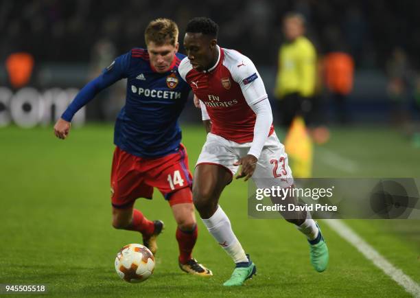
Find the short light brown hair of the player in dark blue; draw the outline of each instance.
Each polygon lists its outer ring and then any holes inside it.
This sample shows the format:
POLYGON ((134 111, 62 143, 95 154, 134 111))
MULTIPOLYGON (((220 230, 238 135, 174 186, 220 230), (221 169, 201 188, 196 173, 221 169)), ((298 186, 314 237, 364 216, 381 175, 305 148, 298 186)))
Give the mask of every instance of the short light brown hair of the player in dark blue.
POLYGON ((144 32, 146 45, 153 42, 156 45, 176 45, 178 43, 178 26, 170 19, 156 19, 149 23, 144 32))

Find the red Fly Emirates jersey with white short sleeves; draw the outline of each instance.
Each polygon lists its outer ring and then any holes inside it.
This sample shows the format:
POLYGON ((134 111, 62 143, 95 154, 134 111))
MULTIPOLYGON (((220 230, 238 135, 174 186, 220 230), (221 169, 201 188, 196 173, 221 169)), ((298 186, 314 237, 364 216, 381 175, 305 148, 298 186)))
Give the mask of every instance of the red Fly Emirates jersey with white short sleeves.
MULTIPOLYGON (((248 57, 233 49, 218 51, 218 62, 208 71, 193 69, 187 57, 178 71, 205 105, 211 133, 241 144, 252 142, 256 115, 250 106, 268 100, 264 82, 248 57)), ((273 131, 271 124, 269 135, 273 131)))

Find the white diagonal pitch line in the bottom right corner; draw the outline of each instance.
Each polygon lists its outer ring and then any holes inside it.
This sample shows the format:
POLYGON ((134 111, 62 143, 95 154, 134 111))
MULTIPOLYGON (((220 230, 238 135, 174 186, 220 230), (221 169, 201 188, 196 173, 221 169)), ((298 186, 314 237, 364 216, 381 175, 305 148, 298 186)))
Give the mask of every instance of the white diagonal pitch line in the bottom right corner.
POLYGON ((397 284, 404 288, 404 290, 416 298, 420 297, 419 284, 412 280, 408 275, 405 275, 401 269, 388 262, 385 257, 360 238, 360 236, 347 226, 345 222, 338 219, 325 219, 323 221, 327 223, 331 229, 336 231, 338 235, 358 249, 366 259, 371 260, 377 268, 380 268, 386 275, 394 279, 397 284))

